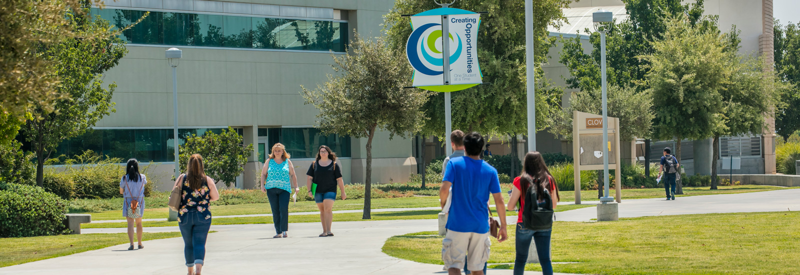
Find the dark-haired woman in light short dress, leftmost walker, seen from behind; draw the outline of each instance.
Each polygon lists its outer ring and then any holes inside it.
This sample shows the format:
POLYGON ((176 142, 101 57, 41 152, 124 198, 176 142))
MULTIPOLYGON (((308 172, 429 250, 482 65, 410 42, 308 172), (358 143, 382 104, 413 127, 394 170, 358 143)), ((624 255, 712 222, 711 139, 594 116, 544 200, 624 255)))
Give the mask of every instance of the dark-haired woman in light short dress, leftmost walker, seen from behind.
POLYGON ((119 181, 119 193, 125 197, 125 202, 122 204, 122 217, 126 217, 128 221, 128 240, 130 240, 130 247, 128 250, 134 249, 134 222, 136 224, 136 239, 138 240, 138 248, 145 248, 142 245, 142 217, 145 214, 145 185, 147 178, 144 174, 139 173, 139 161, 135 158, 128 160, 126 165, 126 173, 119 181), (134 203, 134 201, 136 201, 134 203), (132 209, 134 205, 137 209, 132 209), (131 215, 129 216, 128 213, 131 215))

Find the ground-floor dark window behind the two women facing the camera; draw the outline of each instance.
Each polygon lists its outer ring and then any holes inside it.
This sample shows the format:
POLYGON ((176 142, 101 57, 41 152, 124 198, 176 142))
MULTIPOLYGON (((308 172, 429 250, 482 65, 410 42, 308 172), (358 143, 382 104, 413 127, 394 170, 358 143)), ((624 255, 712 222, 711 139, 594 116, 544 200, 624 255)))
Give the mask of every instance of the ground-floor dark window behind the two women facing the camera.
POLYGON ((323 135, 316 128, 270 128, 269 146, 282 143, 286 153, 294 158, 315 158, 320 145, 327 145, 337 157, 350 157, 350 137, 338 134, 323 135))

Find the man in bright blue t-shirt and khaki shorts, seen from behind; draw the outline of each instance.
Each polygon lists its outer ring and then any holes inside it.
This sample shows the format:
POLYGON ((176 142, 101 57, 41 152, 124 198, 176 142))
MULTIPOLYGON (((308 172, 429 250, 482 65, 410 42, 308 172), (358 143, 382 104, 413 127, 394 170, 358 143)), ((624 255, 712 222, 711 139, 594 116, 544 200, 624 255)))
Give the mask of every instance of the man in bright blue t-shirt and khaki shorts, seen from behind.
POLYGON ((439 198, 442 207, 450 192, 450 214, 447 217, 447 234, 442 241, 442 261, 451 275, 467 269, 473 275, 483 274, 483 265, 489 260, 489 194, 494 197, 500 217, 498 241, 506 241, 506 209, 500 193, 498 171, 480 158, 483 137, 472 132, 464 137, 465 157, 454 157, 447 163, 439 198), (450 187, 452 186, 452 191, 450 187), (469 260, 467 260, 469 259, 469 260))

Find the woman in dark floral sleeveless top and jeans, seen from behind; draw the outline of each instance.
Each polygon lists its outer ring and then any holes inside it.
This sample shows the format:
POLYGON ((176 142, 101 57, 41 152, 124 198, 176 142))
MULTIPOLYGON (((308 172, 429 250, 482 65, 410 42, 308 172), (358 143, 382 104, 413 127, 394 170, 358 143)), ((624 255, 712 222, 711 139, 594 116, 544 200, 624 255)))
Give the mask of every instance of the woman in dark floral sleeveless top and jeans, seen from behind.
POLYGON ((214 179, 203 171, 202 157, 195 153, 189 157, 186 173, 178 177, 175 186, 181 186, 181 208, 178 209, 178 227, 183 236, 183 256, 189 275, 200 275, 206 258, 206 237, 211 227, 210 202, 219 199, 214 179))

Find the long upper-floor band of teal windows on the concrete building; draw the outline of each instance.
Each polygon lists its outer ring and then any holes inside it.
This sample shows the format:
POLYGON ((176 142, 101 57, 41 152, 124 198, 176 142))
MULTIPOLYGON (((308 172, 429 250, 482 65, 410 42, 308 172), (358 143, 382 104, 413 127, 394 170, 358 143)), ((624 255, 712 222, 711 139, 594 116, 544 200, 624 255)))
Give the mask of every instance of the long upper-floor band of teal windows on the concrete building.
MULTIPOLYGON (((92 8, 90 13, 128 26, 145 11, 92 8)), ((346 22, 151 11, 120 38, 145 45, 344 52, 347 33, 346 22)))

